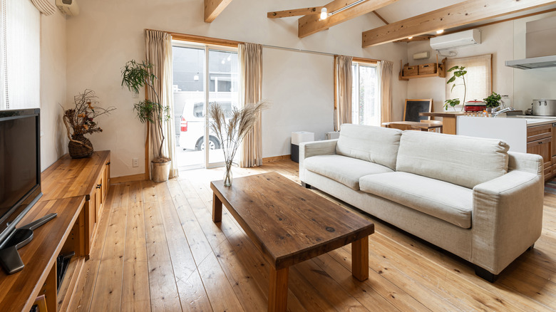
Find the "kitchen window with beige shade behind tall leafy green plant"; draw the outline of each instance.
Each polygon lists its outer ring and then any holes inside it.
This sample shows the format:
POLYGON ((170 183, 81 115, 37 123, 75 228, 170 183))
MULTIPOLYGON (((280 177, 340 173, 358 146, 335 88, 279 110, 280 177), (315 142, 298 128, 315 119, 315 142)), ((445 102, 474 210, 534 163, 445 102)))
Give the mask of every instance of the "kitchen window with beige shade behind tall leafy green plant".
MULTIPOLYGON (((451 58, 446 62, 446 70, 453 66, 464 66, 467 71, 465 74, 465 85, 467 86, 465 101, 483 100, 492 93, 492 59, 492 54, 486 54, 469 58, 451 58)), ((446 81, 453 76, 452 73, 446 73, 446 81)), ((456 82, 458 85, 453 90, 451 90, 453 83, 446 84, 446 99, 459 98, 462 102, 460 104, 463 105, 463 84, 457 80, 456 82)))

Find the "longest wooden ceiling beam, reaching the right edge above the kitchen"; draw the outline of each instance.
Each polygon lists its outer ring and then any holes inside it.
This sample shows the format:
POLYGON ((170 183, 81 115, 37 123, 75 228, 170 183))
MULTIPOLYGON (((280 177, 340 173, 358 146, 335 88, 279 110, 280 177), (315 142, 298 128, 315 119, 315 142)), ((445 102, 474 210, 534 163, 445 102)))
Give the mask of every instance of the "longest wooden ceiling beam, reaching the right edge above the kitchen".
POLYGON ((468 0, 363 33, 363 47, 401 40, 466 24, 556 4, 550 0, 468 0))

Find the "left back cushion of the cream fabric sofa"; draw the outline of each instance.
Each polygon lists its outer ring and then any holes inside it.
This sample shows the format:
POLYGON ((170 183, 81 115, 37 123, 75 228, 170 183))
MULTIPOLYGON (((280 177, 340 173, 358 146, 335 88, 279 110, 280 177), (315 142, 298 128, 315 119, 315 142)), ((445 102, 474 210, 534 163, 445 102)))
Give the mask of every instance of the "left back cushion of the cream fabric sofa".
POLYGON ((401 130, 371 125, 341 125, 336 154, 396 169, 401 130))

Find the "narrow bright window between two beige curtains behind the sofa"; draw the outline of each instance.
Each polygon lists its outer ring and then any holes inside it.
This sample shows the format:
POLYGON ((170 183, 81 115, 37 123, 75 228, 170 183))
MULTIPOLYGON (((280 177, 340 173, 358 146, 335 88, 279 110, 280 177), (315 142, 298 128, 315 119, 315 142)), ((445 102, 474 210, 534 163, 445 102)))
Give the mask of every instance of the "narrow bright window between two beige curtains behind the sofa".
POLYGON ((353 62, 351 90, 352 123, 358 125, 381 125, 379 81, 376 64, 353 62))

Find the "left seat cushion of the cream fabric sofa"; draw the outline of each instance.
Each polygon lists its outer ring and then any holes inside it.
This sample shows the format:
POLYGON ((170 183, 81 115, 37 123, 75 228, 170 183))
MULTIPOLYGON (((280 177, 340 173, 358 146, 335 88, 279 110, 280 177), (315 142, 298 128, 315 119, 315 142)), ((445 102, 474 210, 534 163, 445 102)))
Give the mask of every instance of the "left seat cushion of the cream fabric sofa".
POLYGON ((364 175, 392 172, 388 167, 341 155, 309 157, 305 159, 304 166, 309 171, 324 175, 357 191, 359 191, 359 178, 364 175))

